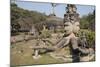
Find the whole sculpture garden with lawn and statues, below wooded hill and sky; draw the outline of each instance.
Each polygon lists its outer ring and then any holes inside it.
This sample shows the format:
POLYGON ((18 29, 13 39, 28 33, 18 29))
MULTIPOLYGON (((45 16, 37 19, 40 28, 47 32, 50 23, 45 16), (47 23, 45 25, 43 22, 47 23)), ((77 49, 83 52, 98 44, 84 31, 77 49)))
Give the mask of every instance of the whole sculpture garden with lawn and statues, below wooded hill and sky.
MULTIPOLYGON (((54 7, 57 7, 57 5, 54 5, 54 7)), ((38 28, 41 27, 40 29, 37 30, 37 25, 30 24, 31 28, 29 28, 28 32, 21 31, 18 35, 11 36, 12 66, 95 60, 95 32, 80 27, 82 21, 80 14, 77 12, 77 6, 67 4, 64 18, 60 18, 60 20, 56 17, 54 7, 53 14, 48 16, 49 19, 46 18, 46 21, 43 20, 42 25, 38 26, 38 28), (48 23, 45 23, 47 21, 62 23, 57 25, 49 24, 48 26, 48 23)), ((25 19, 24 23, 26 23, 25 19)))

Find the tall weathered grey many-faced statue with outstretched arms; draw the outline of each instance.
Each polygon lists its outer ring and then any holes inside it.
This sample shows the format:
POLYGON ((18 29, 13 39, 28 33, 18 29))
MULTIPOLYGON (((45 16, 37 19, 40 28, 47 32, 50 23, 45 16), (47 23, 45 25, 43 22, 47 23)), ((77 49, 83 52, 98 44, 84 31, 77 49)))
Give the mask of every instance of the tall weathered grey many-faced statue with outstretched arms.
MULTIPOLYGON (((73 62, 79 62, 80 61, 80 54, 88 55, 90 53, 90 50, 86 48, 86 38, 83 36, 83 40, 81 41, 81 44, 79 46, 79 40, 80 38, 76 36, 76 34, 80 30, 80 20, 79 20, 79 14, 76 12, 77 8, 75 5, 68 4, 66 7, 66 14, 64 14, 64 30, 65 35, 62 37, 62 39, 57 42, 55 46, 52 46, 51 50, 58 51, 58 49, 61 49, 67 45, 70 46, 71 52, 72 52, 72 61, 73 62)), ((48 40, 45 40, 48 41, 48 40)), ((43 47, 45 49, 48 49, 47 47, 43 47)), ((54 56, 55 53, 52 53, 51 55, 54 56)), ((37 56, 36 52, 36 56, 37 56)), ((55 56, 57 57, 57 56, 55 56)))

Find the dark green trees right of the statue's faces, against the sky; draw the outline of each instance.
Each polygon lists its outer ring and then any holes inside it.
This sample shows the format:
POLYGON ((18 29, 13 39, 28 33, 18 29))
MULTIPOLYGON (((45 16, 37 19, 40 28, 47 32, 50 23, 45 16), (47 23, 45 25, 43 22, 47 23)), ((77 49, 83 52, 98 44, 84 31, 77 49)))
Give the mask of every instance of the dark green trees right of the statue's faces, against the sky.
POLYGON ((84 15, 80 19, 80 28, 95 30, 95 11, 93 13, 89 13, 88 15, 84 15))

